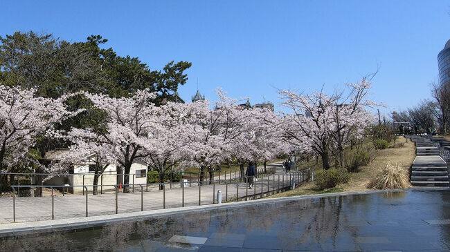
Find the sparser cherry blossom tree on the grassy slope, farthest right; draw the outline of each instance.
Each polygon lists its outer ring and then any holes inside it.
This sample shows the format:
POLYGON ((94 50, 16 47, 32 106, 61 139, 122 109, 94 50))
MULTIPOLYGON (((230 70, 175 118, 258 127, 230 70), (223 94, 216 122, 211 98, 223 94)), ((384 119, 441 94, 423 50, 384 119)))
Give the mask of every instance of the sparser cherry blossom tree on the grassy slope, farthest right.
POLYGON ((289 90, 281 90, 280 96, 285 99, 283 105, 294 113, 287 115, 286 134, 292 144, 303 145, 321 155, 323 168, 330 168, 330 155, 337 150, 337 162, 343 167, 343 150, 352 134, 361 137, 362 130, 370 124, 372 117, 366 110, 368 106, 378 106, 368 99, 371 88, 367 77, 357 84, 347 84, 350 92, 329 96, 323 90, 312 94, 298 94, 289 90))

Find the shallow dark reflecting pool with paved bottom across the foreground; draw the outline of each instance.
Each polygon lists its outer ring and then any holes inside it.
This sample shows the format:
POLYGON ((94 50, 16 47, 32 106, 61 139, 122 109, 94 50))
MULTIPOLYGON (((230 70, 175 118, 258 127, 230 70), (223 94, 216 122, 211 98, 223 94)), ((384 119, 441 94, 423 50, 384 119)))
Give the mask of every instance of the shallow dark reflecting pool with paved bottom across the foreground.
POLYGON ((0 251, 305 250, 450 250, 450 191, 264 202, 0 240, 0 251))

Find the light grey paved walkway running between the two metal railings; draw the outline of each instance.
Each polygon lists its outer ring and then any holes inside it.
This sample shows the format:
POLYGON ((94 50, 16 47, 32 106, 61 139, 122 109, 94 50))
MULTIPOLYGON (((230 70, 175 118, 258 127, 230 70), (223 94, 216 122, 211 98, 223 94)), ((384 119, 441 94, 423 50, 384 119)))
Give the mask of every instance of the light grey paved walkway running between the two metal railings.
MULTIPOLYGON (((191 186, 186 188, 168 188, 165 191, 143 191, 136 190, 135 193, 118 193, 118 213, 128 213, 143 210, 154 210, 175 208, 183 206, 196 206, 199 204, 213 204, 217 190, 222 191, 222 201, 251 200, 279 191, 284 191, 291 185, 291 178, 295 172, 282 172, 281 162, 270 164, 276 166, 276 174, 258 179, 253 189, 248 189, 244 182, 225 184, 214 184, 205 186, 191 186), (183 193, 184 192, 184 193, 183 193), (165 197, 164 197, 165 195, 165 197), (183 197, 184 195, 184 197, 183 197), (165 198, 165 200, 164 200, 165 198), (213 200, 214 199, 214 200, 213 200), (141 201, 142 200, 142 201, 141 201)), ((299 178, 299 177, 298 177, 299 178)), ((303 176, 306 179, 306 176, 303 176)), ((102 195, 88 194, 88 215, 111 215, 116 213, 116 194, 106 193, 102 195)), ((0 223, 13 222, 13 200, 12 198, 0 198, 0 223)), ((71 195, 54 197, 55 220, 71 217, 86 216, 86 196, 71 195)), ((39 220, 51 220, 52 197, 18 197, 15 202, 16 222, 33 222, 39 220)))

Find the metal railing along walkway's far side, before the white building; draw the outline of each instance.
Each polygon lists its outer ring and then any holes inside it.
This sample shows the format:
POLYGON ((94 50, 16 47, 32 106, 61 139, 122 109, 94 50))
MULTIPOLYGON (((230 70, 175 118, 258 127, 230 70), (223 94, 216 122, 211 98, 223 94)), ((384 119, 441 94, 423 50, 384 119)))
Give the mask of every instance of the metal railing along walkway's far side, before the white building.
MULTIPOLYGON (((258 168, 257 169, 257 174, 258 175, 269 175, 269 174, 273 174, 276 172, 276 168, 271 167, 271 168, 267 168, 265 169, 266 171, 264 171, 264 168, 258 168)), ((114 189, 111 188, 110 184, 123 184, 123 183, 119 183, 118 179, 120 179, 121 181, 124 181, 125 179, 125 175, 126 174, 117 174, 117 173, 102 173, 102 174, 95 174, 95 173, 75 173, 75 174, 69 174, 69 173, 0 173, 0 177, 1 176, 13 176, 13 177, 17 177, 17 179, 10 181, 8 183, 7 186, 3 186, 3 188, 8 188, 12 186, 12 184, 14 184, 16 187, 18 188, 18 191, 20 194, 20 189, 22 187, 35 187, 35 188, 41 188, 42 186, 44 187, 48 187, 48 183, 46 184, 44 181, 46 180, 60 180, 60 184, 56 184, 53 183, 53 187, 55 188, 66 188, 66 187, 71 187, 71 186, 64 186, 66 184, 72 184, 73 188, 75 187, 79 187, 79 186, 93 186, 93 187, 100 187, 100 194, 103 193, 104 191, 104 187, 109 189, 114 189), (93 182, 91 182, 93 180, 93 177, 98 176, 98 183, 94 185, 93 182), (80 184, 75 183, 74 182, 74 176, 77 176, 78 178, 80 178, 80 180, 82 181, 80 184), (104 184, 104 177, 109 178, 109 184, 104 184), (69 181, 72 182, 69 182, 69 181), (34 182, 34 183, 33 183, 34 182), (89 182, 91 182, 91 184, 89 184, 89 182), (113 183, 111 183, 113 182, 113 183), (21 183, 27 183, 27 184, 21 184, 21 183), (20 186, 23 185, 23 186, 20 186)), ((244 172, 243 171, 205 171, 203 177, 201 178, 201 174, 199 172, 197 173, 190 173, 190 172, 186 172, 186 173, 181 173, 181 172, 176 172, 176 171, 171 171, 171 172, 167 172, 167 173, 145 173, 145 177, 136 177, 136 173, 130 173, 129 174, 129 183, 127 183, 127 185, 129 184, 129 186, 132 187, 132 191, 134 192, 134 186, 138 186, 138 184, 144 184, 144 183, 135 183, 135 180, 138 179, 144 179, 145 182, 150 181, 160 181, 161 178, 163 178, 163 183, 159 182, 157 184, 168 184, 170 186, 170 188, 172 188, 172 186, 179 184, 180 182, 183 182, 184 180, 187 180, 189 185, 192 186, 192 184, 211 184, 212 181, 216 181, 217 179, 215 177, 219 177, 218 178, 218 182, 221 183, 221 181, 224 180, 234 180, 234 182, 240 181, 242 182, 242 180, 244 180, 244 172), (222 179, 223 177, 223 179, 222 179)), ((0 180, 0 193, 3 191, 2 185, 1 185, 2 181, 0 180)), ((156 183, 146 183, 146 191, 148 191, 148 187, 150 184, 156 184, 156 183)), ((157 188, 158 190, 161 190, 161 186, 159 186, 157 188)), ((11 190, 6 190, 6 191, 11 191, 11 190)), ((73 193, 75 190, 73 190, 73 193)), ((64 190, 62 191, 62 193, 64 194, 64 190)), ((84 195, 84 190, 82 190, 82 194, 84 195)), ((40 192, 40 197, 43 196, 42 191, 40 192)), ((1 195, 0 195, 1 197, 1 195)))

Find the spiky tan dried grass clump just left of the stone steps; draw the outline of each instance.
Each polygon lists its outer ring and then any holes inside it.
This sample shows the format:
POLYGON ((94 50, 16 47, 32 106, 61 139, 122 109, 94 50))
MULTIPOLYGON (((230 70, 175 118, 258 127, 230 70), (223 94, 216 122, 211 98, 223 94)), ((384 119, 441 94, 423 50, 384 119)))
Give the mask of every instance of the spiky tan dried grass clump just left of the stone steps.
POLYGON ((406 170, 399 164, 386 164, 381 173, 370 181, 368 188, 372 189, 399 189, 409 187, 409 177, 406 170))

